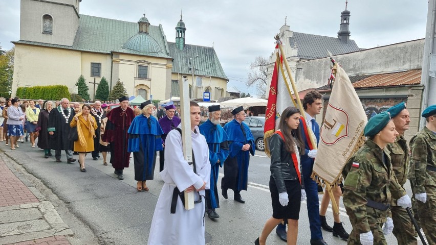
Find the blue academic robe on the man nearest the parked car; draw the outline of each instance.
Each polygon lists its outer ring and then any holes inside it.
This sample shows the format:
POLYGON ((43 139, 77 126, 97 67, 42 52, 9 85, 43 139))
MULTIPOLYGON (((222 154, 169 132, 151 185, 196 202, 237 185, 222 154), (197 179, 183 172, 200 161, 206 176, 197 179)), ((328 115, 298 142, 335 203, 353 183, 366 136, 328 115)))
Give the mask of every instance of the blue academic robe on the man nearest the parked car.
POLYGON ((222 189, 234 191, 247 190, 248 164, 250 154, 254 156, 254 137, 245 122, 239 124, 236 119, 229 121, 224 130, 228 136, 229 157, 224 162, 224 177, 221 181, 222 189), (245 133, 245 135, 244 135, 245 133), (242 151, 244 144, 250 144, 250 150, 242 151))

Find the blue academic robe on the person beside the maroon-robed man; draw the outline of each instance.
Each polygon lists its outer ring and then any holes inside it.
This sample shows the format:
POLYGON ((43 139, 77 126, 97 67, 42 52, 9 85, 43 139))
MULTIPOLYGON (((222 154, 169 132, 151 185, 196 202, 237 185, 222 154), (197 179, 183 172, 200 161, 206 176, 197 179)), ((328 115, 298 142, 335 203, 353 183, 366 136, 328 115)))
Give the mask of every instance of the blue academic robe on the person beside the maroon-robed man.
POLYGON ((143 114, 136 116, 128 131, 127 152, 133 152, 135 180, 152 180, 155 173, 156 151, 162 150, 163 134, 158 120, 143 114))

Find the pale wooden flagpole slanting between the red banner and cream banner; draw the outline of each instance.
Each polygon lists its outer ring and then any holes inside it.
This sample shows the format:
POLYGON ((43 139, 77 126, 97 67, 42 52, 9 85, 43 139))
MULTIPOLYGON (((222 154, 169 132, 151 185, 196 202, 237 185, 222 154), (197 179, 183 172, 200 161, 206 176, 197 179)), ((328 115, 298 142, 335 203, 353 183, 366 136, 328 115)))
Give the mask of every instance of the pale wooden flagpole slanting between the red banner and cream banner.
MULTIPOLYGON (((280 54, 285 56, 286 54, 283 51, 283 47, 281 46, 280 38, 278 35, 275 36, 275 40, 277 40, 278 48, 280 49, 280 54)), ((278 54, 277 54, 277 56, 278 56, 278 54)), ((280 57, 278 57, 278 59, 280 60, 280 57)), ((304 109, 303 109, 303 106, 301 104, 300 96, 298 95, 298 90, 297 90, 297 87, 295 86, 294 79, 292 78, 291 69, 289 68, 288 60, 286 59, 286 57, 284 57, 283 61, 285 63, 286 71, 288 72, 288 77, 289 77, 289 81, 291 82, 291 85, 292 85, 292 90, 294 91, 295 98, 297 100, 298 109, 301 111, 301 114, 303 114, 304 109)), ((284 76, 283 73, 282 73, 282 75, 284 76)), ((291 89, 289 88, 288 82, 286 81, 285 77, 284 77, 284 79, 285 79, 286 86, 288 87, 288 92, 289 92, 289 95, 291 96, 291 100, 294 100, 292 98, 291 89)), ((306 116, 304 116, 304 117, 306 117, 306 116)), ((308 128, 308 132, 309 132, 308 122, 306 121, 306 119, 304 119, 304 122, 305 122, 305 127, 308 128)), ((313 149, 316 149, 316 143, 315 143, 314 138, 312 137, 312 134, 308 134, 308 136, 309 136, 310 141, 312 142, 313 149)), ((338 204, 335 201, 335 196, 333 195, 333 191, 332 191, 330 184, 327 183, 325 185, 325 190, 329 193, 330 201, 332 202, 333 212, 335 212, 336 214, 339 214, 338 204)))

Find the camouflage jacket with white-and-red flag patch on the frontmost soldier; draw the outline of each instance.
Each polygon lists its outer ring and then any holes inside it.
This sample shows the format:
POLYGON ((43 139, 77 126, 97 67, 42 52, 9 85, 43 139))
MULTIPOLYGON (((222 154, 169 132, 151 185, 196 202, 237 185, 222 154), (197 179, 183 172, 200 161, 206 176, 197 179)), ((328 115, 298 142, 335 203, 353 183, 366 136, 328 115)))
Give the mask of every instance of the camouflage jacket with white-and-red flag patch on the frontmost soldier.
POLYGON ((406 194, 393 173, 389 152, 370 139, 347 161, 342 175, 345 178, 343 203, 358 234, 370 231, 369 219, 371 223, 381 224, 390 215, 389 211, 366 206, 366 200, 388 205, 391 196, 398 199, 406 194), (386 156, 385 164, 383 156, 386 156))

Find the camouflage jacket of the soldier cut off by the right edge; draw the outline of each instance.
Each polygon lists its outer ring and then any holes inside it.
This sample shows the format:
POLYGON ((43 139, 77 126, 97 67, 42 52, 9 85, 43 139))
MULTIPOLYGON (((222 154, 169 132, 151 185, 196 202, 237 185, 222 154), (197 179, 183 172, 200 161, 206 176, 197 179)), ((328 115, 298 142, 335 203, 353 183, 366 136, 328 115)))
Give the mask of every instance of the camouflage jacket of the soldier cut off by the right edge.
POLYGON ((413 193, 426 192, 425 186, 436 187, 436 172, 427 170, 427 165, 436 167, 436 135, 424 127, 410 139, 409 180, 413 193))

